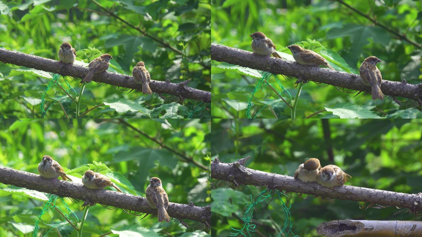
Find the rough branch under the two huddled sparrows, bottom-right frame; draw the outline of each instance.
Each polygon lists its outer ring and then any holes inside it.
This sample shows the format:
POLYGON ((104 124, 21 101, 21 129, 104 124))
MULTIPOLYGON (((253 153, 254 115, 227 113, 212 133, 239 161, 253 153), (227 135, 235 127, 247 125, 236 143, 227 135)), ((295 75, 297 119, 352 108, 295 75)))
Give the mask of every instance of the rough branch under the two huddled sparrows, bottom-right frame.
POLYGON ((378 205, 390 205, 408 208, 413 212, 422 211, 422 193, 404 194, 379 189, 367 189, 343 185, 334 190, 317 183, 303 183, 291 176, 277 175, 244 167, 241 162, 222 163, 216 158, 211 162, 211 178, 226 180, 240 186, 242 184, 265 186, 295 193, 304 193, 321 197, 330 197, 355 202, 370 202, 378 205))

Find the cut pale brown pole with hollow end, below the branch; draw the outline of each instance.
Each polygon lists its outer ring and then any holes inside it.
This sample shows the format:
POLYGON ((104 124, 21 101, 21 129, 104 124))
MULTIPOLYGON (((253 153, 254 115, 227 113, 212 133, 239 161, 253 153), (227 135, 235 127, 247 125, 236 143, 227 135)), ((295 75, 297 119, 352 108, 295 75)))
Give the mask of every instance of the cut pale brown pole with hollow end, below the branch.
POLYGON ((317 234, 325 237, 420 237, 422 221, 326 221, 317 226, 317 234))

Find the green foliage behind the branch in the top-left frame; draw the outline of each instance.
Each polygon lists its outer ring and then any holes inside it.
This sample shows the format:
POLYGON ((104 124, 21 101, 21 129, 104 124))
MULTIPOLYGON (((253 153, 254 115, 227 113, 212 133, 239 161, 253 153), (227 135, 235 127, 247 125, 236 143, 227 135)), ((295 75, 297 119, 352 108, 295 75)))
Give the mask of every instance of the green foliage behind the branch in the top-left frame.
MULTIPOLYGON (((91 0, 0 1, 0 46, 58 60, 57 51, 60 45, 69 42, 77 51, 76 65, 87 66, 97 55, 108 53, 114 58, 111 59, 109 71, 132 75, 136 63, 144 61, 153 80, 169 79, 173 83, 179 83, 192 79, 188 86, 210 90, 209 3, 199 0, 97 2, 146 34, 109 15, 91 0)), ((29 69, 27 73, 15 73, 19 69, 22 67, 0 64, 0 94, 3 94, 0 97, 3 105, 0 107, 0 113, 3 118, 39 118, 41 93, 46 89, 51 75, 45 72, 41 72, 47 74, 44 77, 34 75, 40 71, 33 69, 29 69)), ((66 79, 80 94, 80 80, 76 78, 72 81, 68 77, 66 79)), ((65 85, 62 78, 59 82, 65 85)), ((176 113, 165 116, 165 113, 154 113, 153 110, 162 105, 179 102, 178 97, 163 94, 166 98, 166 101, 163 101, 157 94, 145 96, 141 92, 127 92, 129 91, 110 85, 89 83, 84 88, 80 111, 83 113, 101 105, 85 116, 146 118, 153 114, 155 118, 187 118, 194 108, 201 104, 201 101, 184 100, 180 102, 181 107, 173 106, 176 113), (121 103, 126 107, 133 104, 138 107, 122 111, 102 105, 116 98, 121 99, 121 103)), ((70 95, 76 98, 75 94, 70 95)), ((75 118, 75 103, 58 87, 47 93, 45 107, 59 98, 60 100, 49 108, 47 117, 62 118, 65 117, 66 111, 70 118, 75 118)), ((211 112, 205 110, 205 106, 209 108, 209 105, 200 105, 192 117, 210 117, 211 112)))

